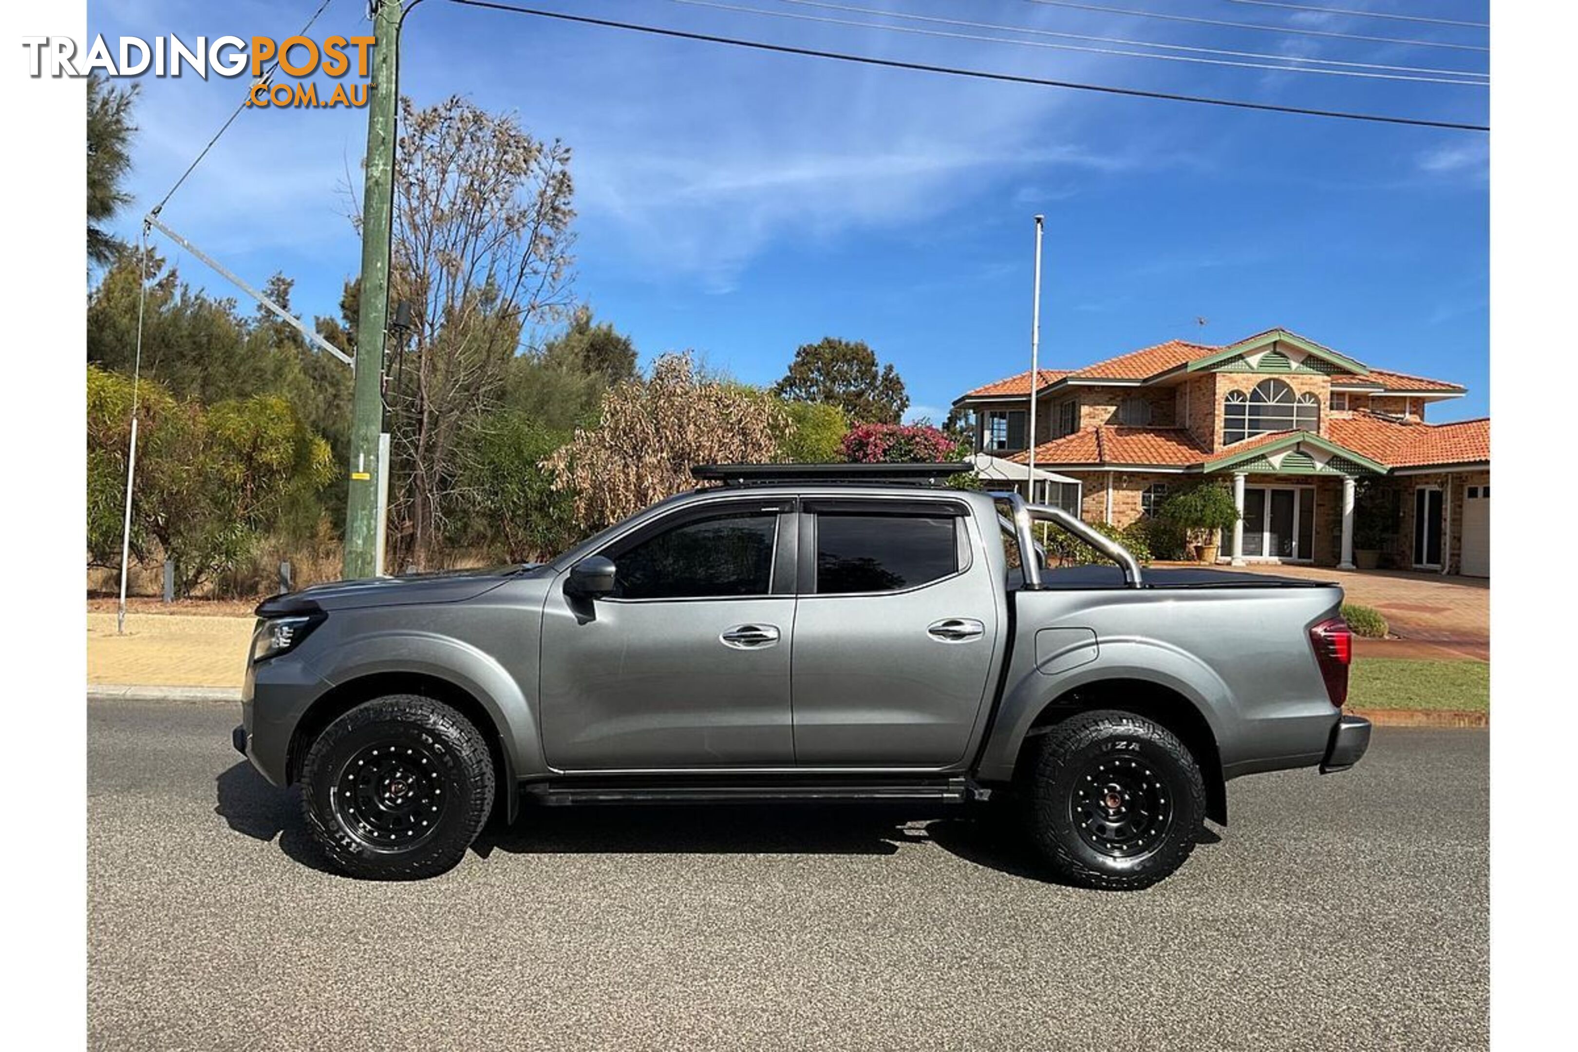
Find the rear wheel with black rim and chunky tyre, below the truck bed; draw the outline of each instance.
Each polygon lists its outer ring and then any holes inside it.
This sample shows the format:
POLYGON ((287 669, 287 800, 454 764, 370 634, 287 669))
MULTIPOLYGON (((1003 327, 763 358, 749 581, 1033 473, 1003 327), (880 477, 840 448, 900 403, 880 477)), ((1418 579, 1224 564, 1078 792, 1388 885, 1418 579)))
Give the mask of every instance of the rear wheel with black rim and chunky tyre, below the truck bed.
POLYGON ((1032 738, 1023 771, 1030 839, 1084 888, 1146 888, 1184 864, 1206 817, 1188 748, 1133 713, 1078 713, 1032 738))

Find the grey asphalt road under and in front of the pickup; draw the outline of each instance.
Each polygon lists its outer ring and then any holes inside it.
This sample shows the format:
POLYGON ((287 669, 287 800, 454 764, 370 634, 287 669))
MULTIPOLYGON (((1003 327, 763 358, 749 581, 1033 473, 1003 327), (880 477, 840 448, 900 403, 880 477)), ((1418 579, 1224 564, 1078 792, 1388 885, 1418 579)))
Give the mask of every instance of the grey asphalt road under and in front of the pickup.
POLYGON ((1486 1044, 1486 735, 1262 774, 1131 894, 991 823, 552 809, 423 883, 323 872, 213 703, 88 703, 95 1049, 1486 1044))

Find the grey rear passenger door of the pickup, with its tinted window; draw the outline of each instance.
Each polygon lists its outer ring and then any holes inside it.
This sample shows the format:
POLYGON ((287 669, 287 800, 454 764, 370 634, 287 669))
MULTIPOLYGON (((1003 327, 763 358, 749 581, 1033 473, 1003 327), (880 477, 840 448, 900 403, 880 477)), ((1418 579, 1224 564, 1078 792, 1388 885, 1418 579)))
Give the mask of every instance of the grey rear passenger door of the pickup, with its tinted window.
POLYGON ((964 503, 802 500, 794 741, 802 767, 964 755, 997 645, 964 503))

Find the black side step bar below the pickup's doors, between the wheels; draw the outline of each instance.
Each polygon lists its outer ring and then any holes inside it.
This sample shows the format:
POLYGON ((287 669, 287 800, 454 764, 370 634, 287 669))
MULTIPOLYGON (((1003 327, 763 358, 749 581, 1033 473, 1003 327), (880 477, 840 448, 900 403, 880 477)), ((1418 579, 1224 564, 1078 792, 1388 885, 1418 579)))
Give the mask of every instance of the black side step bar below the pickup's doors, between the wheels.
POLYGON ((612 803, 768 803, 768 801, 882 801, 914 800, 964 803, 970 785, 963 778, 926 782, 537 782, 521 795, 548 806, 612 803))

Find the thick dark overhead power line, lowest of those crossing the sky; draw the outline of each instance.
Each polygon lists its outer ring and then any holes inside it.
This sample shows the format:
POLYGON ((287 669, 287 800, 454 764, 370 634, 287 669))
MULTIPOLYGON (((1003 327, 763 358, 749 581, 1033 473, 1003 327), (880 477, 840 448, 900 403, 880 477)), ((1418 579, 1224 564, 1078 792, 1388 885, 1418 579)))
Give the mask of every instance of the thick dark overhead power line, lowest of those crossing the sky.
POLYGON ((1223 106, 1229 109, 1262 110, 1269 114, 1299 114, 1303 117, 1332 117, 1338 120, 1360 120, 1378 125, 1408 125, 1414 128, 1445 128, 1452 131, 1490 131, 1488 125, 1468 125, 1447 120, 1425 120, 1419 117, 1392 117, 1387 114, 1360 114, 1349 110, 1313 109, 1305 106, 1277 106, 1272 103, 1250 103, 1243 99, 1223 99, 1204 95, 1177 95, 1172 91, 1147 91, 1142 88, 1120 88, 1106 84, 1084 84, 1078 80, 1053 80, 1048 77, 1027 77, 1011 73, 986 73, 983 69, 963 69, 958 66, 937 66, 922 62, 899 62, 896 58, 873 58, 869 55, 851 55, 836 50, 819 50, 813 47, 792 47, 789 44, 768 44, 765 41, 740 39, 735 36, 716 36, 712 33, 691 33, 686 30, 666 28, 661 25, 642 25, 639 22, 617 22, 614 19, 595 19, 585 14, 567 14, 563 11, 543 11, 495 0, 451 0, 469 8, 484 8, 489 11, 510 11, 513 14, 530 14, 560 22, 576 22, 581 25, 601 25, 606 28, 630 30, 634 33, 650 33, 653 36, 671 36, 675 39, 704 41, 709 44, 729 44, 732 47, 748 47, 753 50, 768 50, 781 55, 806 55, 811 58, 833 58, 838 62, 854 62, 866 66, 884 66, 888 69, 914 69, 918 73, 942 73, 956 77, 972 77, 975 80, 1002 80, 1007 84, 1034 84, 1051 88, 1068 88, 1071 91, 1095 91, 1100 95, 1124 95, 1128 98, 1168 99, 1172 103, 1196 103, 1199 106, 1223 106))

